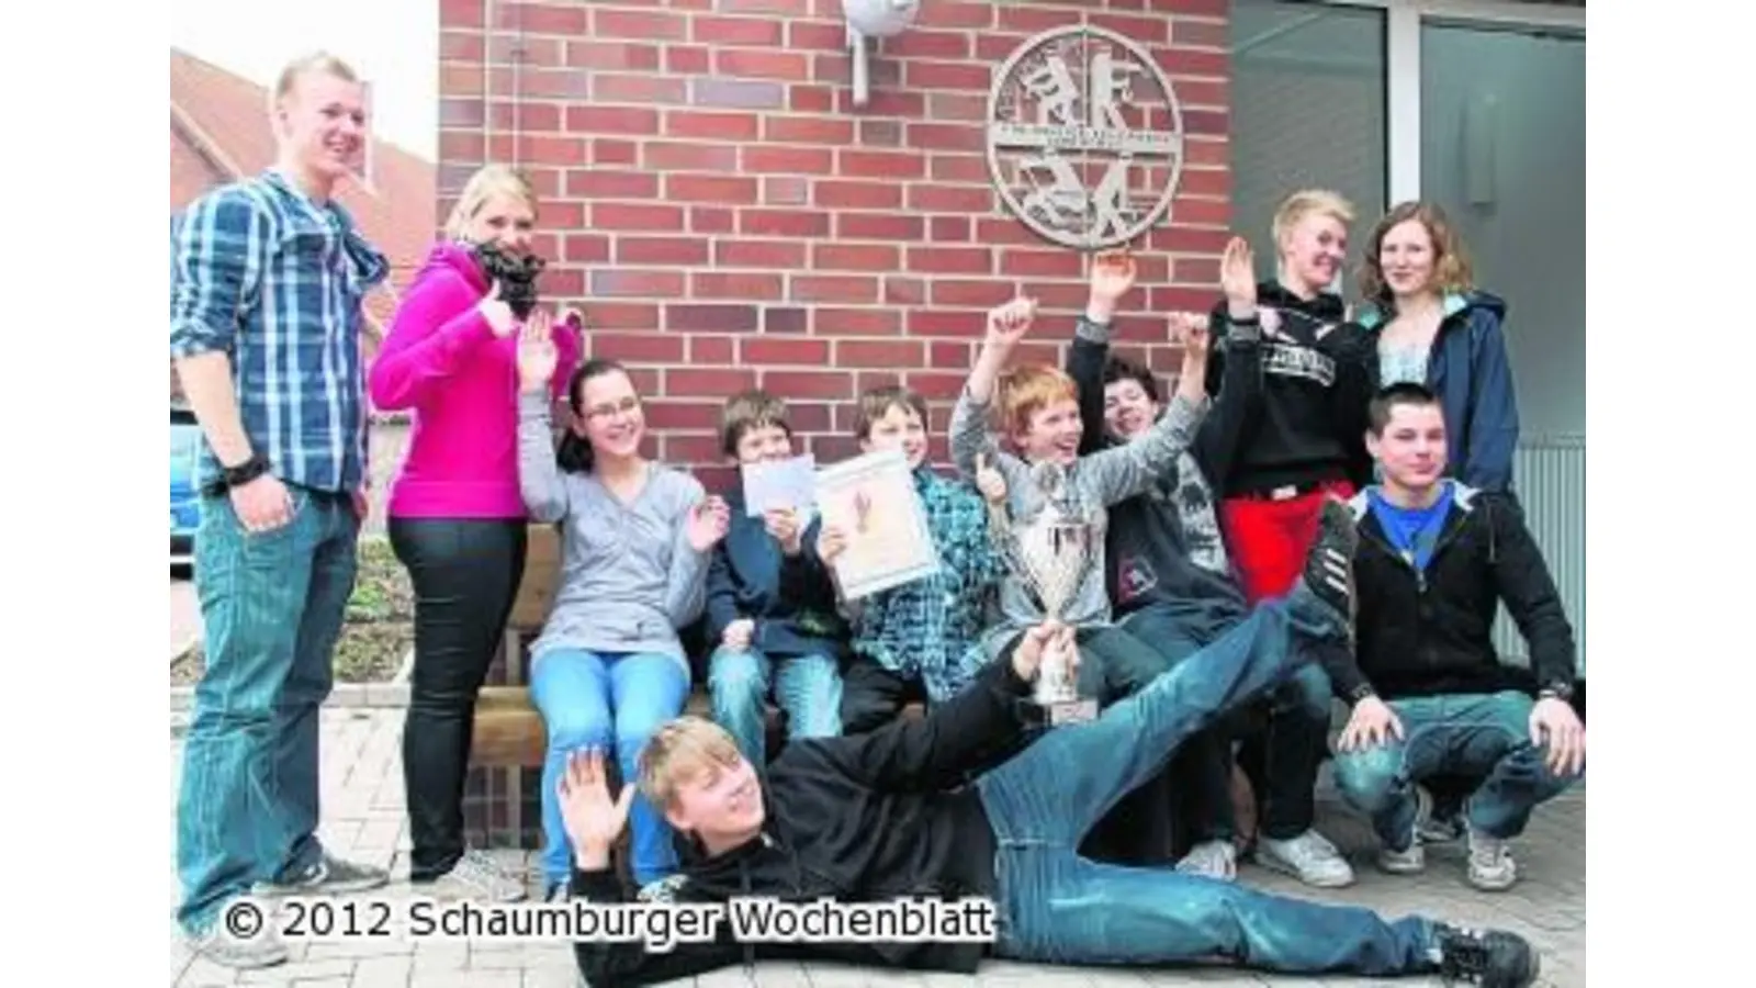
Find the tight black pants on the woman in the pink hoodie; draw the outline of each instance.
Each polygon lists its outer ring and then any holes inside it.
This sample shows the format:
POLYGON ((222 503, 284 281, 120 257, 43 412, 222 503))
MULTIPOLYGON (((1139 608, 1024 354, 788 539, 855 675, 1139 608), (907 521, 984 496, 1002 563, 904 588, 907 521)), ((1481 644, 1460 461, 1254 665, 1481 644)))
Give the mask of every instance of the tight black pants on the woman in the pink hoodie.
POLYGON ((525 570, 523 519, 390 519, 414 585, 414 675, 402 726, 409 879, 434 881, 464 854, 464 774, 476 694, 525 570))

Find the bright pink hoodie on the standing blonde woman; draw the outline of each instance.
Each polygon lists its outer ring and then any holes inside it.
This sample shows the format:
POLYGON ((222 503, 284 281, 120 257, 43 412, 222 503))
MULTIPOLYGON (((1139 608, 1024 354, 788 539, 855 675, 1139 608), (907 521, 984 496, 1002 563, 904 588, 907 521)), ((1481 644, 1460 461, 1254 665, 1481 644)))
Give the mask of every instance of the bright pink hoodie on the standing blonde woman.
MULTIPOLYGON (((493 336, 476 304, 488 280, 469 248, 434 246, 402 297, 372 362, 372 404, 414 410, 390 515, 402 519, 522 519, 518 492, 518 339, 493 336)), ((567 392, 579 341, 555 327, 551 394, 567 392)))

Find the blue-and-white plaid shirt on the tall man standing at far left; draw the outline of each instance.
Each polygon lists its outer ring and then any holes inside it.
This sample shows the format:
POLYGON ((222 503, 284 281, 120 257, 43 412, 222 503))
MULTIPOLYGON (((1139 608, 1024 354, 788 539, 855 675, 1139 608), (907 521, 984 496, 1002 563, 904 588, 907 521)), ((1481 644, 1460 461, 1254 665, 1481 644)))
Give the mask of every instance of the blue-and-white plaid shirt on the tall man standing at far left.
MULTIPOLYGON (((390 265, 334 200, 279 172, 214 190, 172 222, 170 357, 221 352, 251 448, 318 490, 365 485, 360 302, 390 265)), ((202 443, 198 483, 220 464, 202 443)))

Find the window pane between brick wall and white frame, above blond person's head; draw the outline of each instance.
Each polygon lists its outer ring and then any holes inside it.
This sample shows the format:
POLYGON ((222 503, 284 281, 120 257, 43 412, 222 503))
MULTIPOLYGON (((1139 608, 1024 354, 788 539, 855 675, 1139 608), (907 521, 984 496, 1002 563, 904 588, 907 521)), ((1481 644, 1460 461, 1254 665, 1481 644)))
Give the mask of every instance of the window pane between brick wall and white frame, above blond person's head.
POLYGON ((1333 188, 1361 225, 1384 213, 1384 12, 1234 0, 1229 30, 1233 229, 1270 278, 1270 222, 1289 192, 1333 188))

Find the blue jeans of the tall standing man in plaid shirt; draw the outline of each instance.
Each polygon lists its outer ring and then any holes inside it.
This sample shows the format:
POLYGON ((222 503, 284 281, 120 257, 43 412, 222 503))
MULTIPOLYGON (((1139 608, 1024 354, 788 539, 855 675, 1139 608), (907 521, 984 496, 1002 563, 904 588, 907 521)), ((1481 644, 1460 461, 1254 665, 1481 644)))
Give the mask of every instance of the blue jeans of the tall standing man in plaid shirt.
POLYGON ((177 921, 190 934, 255 883, 316 863, 318 710, 334 682, 360 522, 346 496, 288 485, 291 520, 251 534, 204 498, 195 538, 207 668, 183 744, 177 921))

